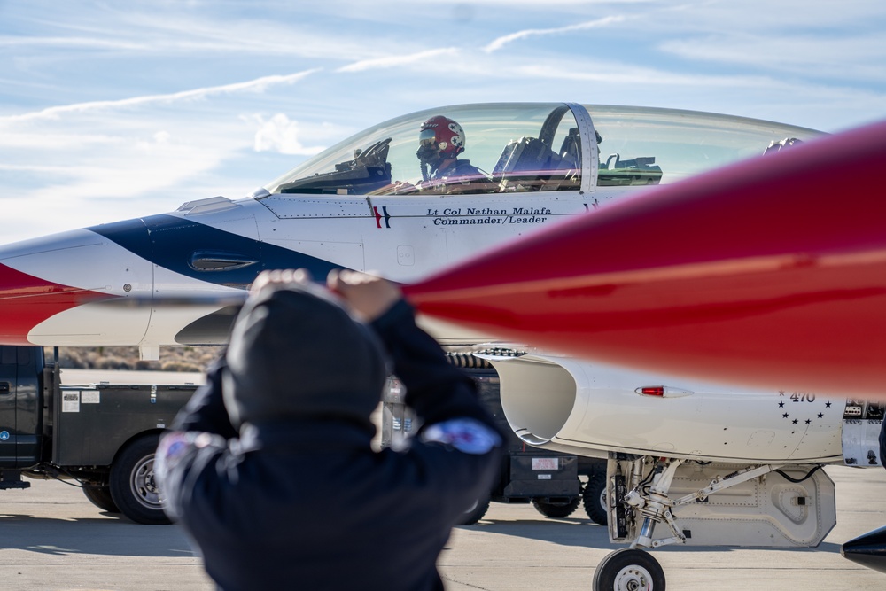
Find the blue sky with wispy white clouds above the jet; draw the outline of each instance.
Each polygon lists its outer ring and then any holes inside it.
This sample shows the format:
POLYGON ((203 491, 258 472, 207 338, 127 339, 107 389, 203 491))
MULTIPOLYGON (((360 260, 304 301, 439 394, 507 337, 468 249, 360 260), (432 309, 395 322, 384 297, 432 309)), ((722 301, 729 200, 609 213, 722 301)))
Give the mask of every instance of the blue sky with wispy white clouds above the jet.
POLYGON ((0 0, 0 244, 240 198, 435 106, 886 119, 882 0, 0 0))

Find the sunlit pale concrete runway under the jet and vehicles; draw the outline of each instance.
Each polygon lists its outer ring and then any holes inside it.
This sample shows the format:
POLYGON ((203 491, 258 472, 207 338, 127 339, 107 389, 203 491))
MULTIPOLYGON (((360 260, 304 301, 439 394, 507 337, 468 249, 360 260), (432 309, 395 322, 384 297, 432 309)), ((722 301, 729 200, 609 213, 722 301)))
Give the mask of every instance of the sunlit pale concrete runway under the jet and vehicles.
MULTIPOLYGON (((819 548, 664 548, 655 556, 668 588, 886 588, 886 575, 840 556, 843 541, 886 525, 886 470, 834 467, 828 474, 836 483, 837 525, 819 548)), ((439 566, 449 591, 587 591, 597 562, 618 548, 582 509, 548 519, 531 505, 493 503, 478 525, 455 530, 439 566)), ((80 490, 54 481, 0 491, 0 587, 214 588, 178 528, 102 513, 80 490)))

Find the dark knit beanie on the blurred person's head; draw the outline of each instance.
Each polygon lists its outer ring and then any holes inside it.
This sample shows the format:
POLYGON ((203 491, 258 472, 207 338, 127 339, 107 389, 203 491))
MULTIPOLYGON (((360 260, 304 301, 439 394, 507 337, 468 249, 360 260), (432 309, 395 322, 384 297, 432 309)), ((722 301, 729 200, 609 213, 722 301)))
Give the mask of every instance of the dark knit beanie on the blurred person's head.
POLYGON ((338 417, 369 422, 381 400, 384 349, 325 289, 261 290, 231 332, 223 396, 231 423, 338 417))

